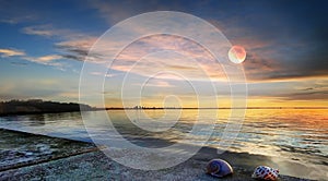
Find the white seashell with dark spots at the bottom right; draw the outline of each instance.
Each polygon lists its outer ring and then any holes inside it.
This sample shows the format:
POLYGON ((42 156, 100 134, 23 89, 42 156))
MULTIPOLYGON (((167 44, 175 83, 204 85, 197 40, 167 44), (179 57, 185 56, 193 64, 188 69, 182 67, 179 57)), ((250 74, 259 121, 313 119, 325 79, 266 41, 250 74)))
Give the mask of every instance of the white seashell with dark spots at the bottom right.
POLYGON ((274 181, 279 177, 279 170, 270 168, 268 166, 258 166, 254 173, 251 174, 251 178, 254 179, 261 179, 261 180, 270 180, 274 181))

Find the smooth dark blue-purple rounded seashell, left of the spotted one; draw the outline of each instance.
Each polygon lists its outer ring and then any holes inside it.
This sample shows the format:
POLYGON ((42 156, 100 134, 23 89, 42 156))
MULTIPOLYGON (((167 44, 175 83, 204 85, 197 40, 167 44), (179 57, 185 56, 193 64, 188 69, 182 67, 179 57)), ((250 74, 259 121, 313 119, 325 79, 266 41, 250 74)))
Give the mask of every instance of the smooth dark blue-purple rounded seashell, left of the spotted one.
POLYGON ((222 178, 233 173, 233 168, 223 159, 212 159, 207 165, 207 173, 222 178))

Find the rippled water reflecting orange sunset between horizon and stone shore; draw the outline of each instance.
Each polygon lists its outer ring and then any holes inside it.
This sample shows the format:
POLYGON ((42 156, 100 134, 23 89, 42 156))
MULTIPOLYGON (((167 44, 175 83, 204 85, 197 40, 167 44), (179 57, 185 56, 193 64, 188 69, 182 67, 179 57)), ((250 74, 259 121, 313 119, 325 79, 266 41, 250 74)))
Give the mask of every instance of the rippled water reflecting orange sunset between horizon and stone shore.
MULTIPOLYGON (((93 138, 102 137, 108 142, 122 136, 144 147, 168 146, 167 142, 166 145, 160 144, 157 138, 196 145, 206 142, 206 145, 220 149, 272 156, 296 164, 306 162, 326 174, 327 109, 248 109, 243 122, 230 121, 231 111, 230 109, 91 111, 83 114, 85 122, 80 112, 44 113, 2 117, 0 126, 89 142, 92 140, 90 134, 93 138), (108 116, 110 121, 105 116, 108 116), (113 128, 108 126, 109 123, 113 128), (90 134, 84 125, 87 125, 90 134), (108 137, 108 131, 114 129, 118 135, 112 134, 108 137), (229 135, 233 142, 227 142, 226 145, 224 141, 227 140, 223 138, 223 135, 229 135)), ((292 172, 285 173, 293 176, 292 172)))

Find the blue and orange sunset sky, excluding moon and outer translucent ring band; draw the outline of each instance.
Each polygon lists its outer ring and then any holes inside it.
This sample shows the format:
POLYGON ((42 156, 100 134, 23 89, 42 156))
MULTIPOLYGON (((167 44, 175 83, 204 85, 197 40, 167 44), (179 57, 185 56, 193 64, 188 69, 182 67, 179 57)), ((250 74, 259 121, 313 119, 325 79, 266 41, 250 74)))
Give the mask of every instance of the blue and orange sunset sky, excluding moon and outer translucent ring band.
MULTIPOLYGON (((241 67, 249 107, 328 107, 327 7, 324 0, 0 0, 0 100, 79 101, 83 63, 87 55, 98 57, 90 49, 106 31, 141 13, 178 11, 211 23, 231 45, 245 48, 241 67)), ((120 35, 126 36, 125 29, 120 35)), ((103 65, 99 62, 94 63, 103 65)), ((107 74, 89 73, 105 77, 104 90, 95 95, 101 94, 107 107, 140 105, 136 99, 147 107, 212 107, 213 99, 231 105, 230 80, 220 62, 198 44, 173 35, 142 37, 120 52, 107 74), (160 48, 183 53, 155 51, 160 48), (210 84, 218 92, 208 90, 210 84)), ((87 86, 90 92, 93 86, 87 86)), ((92 100, 92 93, 84 96, 90 98, 86 104, 102 106, 92 100)))

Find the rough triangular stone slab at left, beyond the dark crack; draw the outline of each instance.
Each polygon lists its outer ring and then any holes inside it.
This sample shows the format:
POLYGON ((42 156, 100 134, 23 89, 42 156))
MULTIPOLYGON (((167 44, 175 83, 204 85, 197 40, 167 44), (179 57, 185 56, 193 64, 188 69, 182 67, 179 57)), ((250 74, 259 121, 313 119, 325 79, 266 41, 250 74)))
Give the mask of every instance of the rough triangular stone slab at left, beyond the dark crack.
POLYGON ((95 150, 91 143, 0 129, 0 171, 95 150))

